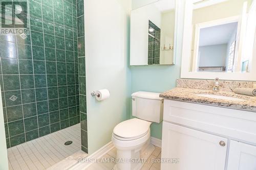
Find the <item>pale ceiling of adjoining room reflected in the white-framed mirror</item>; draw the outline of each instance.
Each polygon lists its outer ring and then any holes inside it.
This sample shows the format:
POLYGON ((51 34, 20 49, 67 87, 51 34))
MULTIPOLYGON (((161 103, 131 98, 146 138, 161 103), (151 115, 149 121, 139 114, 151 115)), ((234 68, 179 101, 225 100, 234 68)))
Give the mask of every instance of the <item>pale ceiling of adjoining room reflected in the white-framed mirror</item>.
POLYGON ((234 32, 237 32, 238 22, 203 28, 200 30, 199 46, 226 44, 234 32))

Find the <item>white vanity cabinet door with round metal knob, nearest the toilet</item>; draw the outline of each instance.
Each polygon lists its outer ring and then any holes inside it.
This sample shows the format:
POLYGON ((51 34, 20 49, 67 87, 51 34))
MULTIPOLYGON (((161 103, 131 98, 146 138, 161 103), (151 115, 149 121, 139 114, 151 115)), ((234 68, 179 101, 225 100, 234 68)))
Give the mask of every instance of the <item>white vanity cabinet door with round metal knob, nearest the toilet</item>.
POLYGON ((161 169, 224 170, 226 143, 226 138, 163 122, 161 169), (164 163, 173 158, 179 163, 164 163))

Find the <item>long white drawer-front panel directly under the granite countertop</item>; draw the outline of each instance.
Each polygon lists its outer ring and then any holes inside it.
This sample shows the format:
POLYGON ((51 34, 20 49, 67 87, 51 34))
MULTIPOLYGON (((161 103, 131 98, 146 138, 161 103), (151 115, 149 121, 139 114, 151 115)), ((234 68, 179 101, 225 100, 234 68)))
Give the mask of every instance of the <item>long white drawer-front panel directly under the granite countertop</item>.
POLYGON ((256 112, 164 100, 165 122, 256 143, 256 112))

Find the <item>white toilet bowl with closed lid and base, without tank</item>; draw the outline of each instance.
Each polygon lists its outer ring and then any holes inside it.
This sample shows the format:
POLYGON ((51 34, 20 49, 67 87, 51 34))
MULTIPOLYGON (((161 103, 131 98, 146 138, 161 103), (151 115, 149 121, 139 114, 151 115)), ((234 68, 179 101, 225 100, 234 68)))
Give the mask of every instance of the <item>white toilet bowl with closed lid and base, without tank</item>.
POLYGON ((150 145, 151 122, 133 118, 118 124, 112 134, 112 142, 117 149, 115 170, 140 169, 141 152, 150 145))

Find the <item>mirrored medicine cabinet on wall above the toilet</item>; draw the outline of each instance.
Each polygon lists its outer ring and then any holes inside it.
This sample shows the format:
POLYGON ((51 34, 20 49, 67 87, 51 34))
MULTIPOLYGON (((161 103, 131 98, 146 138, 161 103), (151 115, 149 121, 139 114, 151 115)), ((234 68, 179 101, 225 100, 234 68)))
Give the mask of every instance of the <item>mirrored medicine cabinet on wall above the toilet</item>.
POLYGON ((175 64, 175 0, 159 0, 131 12, 130 65, 175 64))

